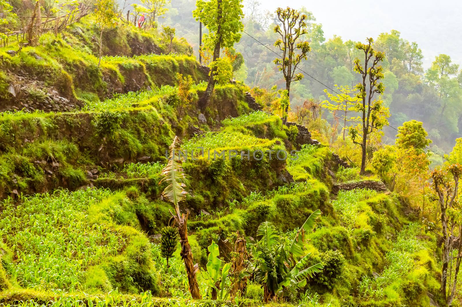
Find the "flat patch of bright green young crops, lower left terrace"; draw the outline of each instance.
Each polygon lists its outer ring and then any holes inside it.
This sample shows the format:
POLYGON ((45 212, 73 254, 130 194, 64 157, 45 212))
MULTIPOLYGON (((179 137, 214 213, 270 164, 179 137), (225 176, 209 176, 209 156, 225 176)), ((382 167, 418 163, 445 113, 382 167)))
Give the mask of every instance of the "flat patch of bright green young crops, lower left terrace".
POLYGON ((18 258, 7 268, 12 277, 23 287, 53 283, 57 289, 78 289, 85 268, 126 245, 121 234, 85 220, 88 206, 111 194, 57 191, 24 196, 18 206, 4 200, 0 237, 18 258))

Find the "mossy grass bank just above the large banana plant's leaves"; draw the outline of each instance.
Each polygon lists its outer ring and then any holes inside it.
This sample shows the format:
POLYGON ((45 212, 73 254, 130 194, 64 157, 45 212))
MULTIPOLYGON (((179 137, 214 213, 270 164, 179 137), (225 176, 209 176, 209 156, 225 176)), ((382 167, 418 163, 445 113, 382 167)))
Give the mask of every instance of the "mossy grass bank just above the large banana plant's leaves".
MULTIPOLYGON (((250 193, 241 202, 231 203, 229 213, 217 211, 213 215, 201 215, 189 225, 198 230, 199 244, 206 247, 217 236, 237 230, 255 237, 258 225, 265 221, 274 223, 281 231, 295 229, 318 208, 332 212, 327 201, 327 187, 319 181, 297 183, 267 196, 250 193), (296 217, 293 212, 298 212, 296 217)), ((329 218, 321 223, 329 223, 329 218)))

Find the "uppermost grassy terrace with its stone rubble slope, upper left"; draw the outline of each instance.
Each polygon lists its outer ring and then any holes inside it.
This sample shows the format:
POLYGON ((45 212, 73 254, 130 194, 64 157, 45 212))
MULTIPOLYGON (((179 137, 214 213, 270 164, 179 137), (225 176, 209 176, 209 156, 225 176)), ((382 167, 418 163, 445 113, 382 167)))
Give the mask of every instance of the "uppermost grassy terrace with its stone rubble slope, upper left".
POLYGON ((86 17, 59 36, 43 34, 37 46, 2 48, 0 111, 70 111, 117 93, 175 85, 178 72, 196 83, 207 77, 207 67, 186 54, 187 43, 175 40, 178 54, 167 55, 158 35, 123 24, 103 36, 99 69, 93 24, 86 17))

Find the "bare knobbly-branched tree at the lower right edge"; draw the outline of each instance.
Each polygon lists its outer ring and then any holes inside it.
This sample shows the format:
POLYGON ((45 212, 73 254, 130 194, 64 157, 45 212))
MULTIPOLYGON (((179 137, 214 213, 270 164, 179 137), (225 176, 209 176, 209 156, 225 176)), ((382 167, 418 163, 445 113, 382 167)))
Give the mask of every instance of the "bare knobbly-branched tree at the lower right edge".
POLYGON ((459 163, 451 164, 447 170, 435 169, 432 172, 433 188, 441 209, 443 265, 440 290, 448 306, 451 306, 456 294, 457 276, 462 262, 462 209, 457 199, 461 175, 462 165, 459 163))

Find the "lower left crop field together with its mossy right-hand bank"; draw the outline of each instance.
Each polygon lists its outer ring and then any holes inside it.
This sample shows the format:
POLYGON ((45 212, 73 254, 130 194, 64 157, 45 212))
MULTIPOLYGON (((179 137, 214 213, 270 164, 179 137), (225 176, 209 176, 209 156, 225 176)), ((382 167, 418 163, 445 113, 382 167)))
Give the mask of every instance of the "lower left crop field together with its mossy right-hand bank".
POLYGON ((17 206, 5 200, 0 237, 18 259, 7 265, 8 274, 36 289, 157 292, 146 235, 110 218, 98 223, 86 218, 89 207, 112 194, 104 189, 58 191, 22 197, 17 206), (97 274, 101 269, 105 274, 97 274))

